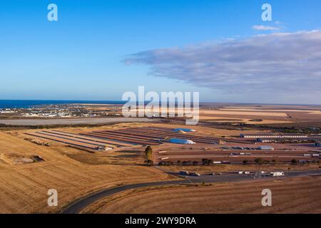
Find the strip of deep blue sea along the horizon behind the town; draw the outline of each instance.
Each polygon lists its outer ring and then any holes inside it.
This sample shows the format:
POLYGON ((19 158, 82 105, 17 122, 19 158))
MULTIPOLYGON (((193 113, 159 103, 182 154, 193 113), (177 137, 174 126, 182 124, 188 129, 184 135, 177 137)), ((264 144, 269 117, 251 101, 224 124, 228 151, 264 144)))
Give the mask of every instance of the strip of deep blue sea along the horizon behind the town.
POLYGON ((124 104, 122 100, 0 100, 0 108, 32 108, 38 105, 63 104, 124 104))

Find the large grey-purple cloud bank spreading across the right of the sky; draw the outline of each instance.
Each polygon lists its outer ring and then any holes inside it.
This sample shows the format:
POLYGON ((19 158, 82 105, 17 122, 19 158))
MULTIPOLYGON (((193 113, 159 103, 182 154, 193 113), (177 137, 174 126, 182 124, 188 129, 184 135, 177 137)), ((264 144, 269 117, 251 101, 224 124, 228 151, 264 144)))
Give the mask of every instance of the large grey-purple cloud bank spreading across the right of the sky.
POLYGON ((218 93, 321 95, 321 31, 270 33, 134 53, 129 64, 151 75, 185 81, 218 93))

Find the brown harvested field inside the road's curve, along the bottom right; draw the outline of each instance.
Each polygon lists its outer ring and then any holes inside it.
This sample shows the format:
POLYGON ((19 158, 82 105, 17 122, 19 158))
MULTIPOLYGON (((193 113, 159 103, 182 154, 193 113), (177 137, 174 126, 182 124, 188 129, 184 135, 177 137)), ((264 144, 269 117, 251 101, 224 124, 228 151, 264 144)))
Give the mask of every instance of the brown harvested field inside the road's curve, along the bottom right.
POLYGON ((159 187, 122 192, 88 207, 96 213, 321 213, 321 177, 159 187), (272 191, 272 207, 261 204, 272 191))

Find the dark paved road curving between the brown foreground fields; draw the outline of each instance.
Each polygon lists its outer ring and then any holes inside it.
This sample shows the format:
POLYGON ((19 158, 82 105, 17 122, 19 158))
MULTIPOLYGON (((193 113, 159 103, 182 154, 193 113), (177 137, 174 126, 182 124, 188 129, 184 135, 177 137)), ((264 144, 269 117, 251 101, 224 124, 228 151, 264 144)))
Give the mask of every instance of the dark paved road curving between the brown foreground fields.
MULTIPOLYGON (((299 176, 307 176, 307 175, 321 175, 321 170, 315 171, 291 171, 288 173, 287 177, 299 177, 299 176)), ((275 177, 265 177, 265 178, 275 178, 275 177)), ((285 178, 285 177, 282 177, 285 178)), ((163 182, 148 182, 141 184, 133 184, 133 185, 123 185, 120 187, 108 188, 106 190, 101 190, 99 192, 93 192, 86 197, 78 199, 76 202, 69 204, 65 207, 61 213, 62 214, 78 214, 83 209, 88 207, 89 205, 97 202, 100 199, 105 197, 114 195, 119 192, 123 192, 125 190, 132 190, 140 187, 152 187, 158 185, 180 185, 187 183, 199 183, 199 182, 238 182, 242 180, 253 180, 252 177, 248 175, 237 175, 234 173, 225 173, 223 175, 201 175, 200 177, 188 177, 182 180, 172 180, 172 181, 163 181, 163 182)))

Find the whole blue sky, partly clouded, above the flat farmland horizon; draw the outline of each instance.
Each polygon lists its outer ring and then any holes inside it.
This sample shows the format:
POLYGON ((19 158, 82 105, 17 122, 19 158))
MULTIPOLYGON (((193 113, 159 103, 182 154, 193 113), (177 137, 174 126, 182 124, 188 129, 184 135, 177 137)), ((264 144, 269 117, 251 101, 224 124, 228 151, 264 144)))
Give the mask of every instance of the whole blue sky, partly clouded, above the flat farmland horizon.
MULTIPOLYGON (((320 48, 320 21, 319 0, 1 1, 0 99, 121 100, 124 92, 146 86, 157 92, 199 91, 202 101, 321 103, 320 58, 307 60, 305 46, 295 48, 298 43, 307 43, 311 50, 320 48), (58 21, 47 20, 51 3, 58 6, 58 21), (272 21, 261 19, 264 3, 272 5, 272 21), (267 26, 275 30, 258 29, 267 26), (255 57, 259 62, 242 60, 237 67, 234 60, 231 64, 212 59, 236 58, 240 46, 243 50, 252 48, 247 43, 260 43, 259 34, 267 36, 265 43, 272 39, 286 46, 290 39, 289 53, 302 53, 293 61, 315 64, 283 76, 290 68, 290 63, 282 64, 288 56, 277 64, 269 62, 264 71, 257 70, 266 63, 264 55, 255 57), (238 48, 223 50, 222 43, 238 48), (223 72, 223 68, 235 70, 223 72), (273 77, 265 81, 271 75, 280 82, 273 77), (305 83, 305 77, 314 83, 305 83), (293 93, 299 87, 305 90, 293 93)), ((271 49, 270 59, 287 53, 282 48, 266 49, 271 49)), ((244 53, 250 54, 250 49, 244 53)))

